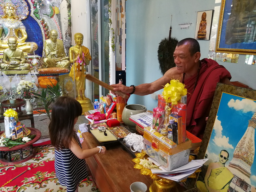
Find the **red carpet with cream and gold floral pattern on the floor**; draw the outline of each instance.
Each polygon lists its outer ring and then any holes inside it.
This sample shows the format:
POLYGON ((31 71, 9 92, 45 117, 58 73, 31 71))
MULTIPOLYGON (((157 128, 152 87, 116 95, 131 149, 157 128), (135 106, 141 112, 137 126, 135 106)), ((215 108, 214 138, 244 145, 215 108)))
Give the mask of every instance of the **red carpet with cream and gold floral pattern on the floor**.
MULTIPOLYGON (((36 156, 25 163, 0 164, 0 192, 64 192, 67 190, 65 186, 60 185, 55 177, 54 148, 52 145, 38 146, 35 149, 37 151, 36 156), (26 171, 28 167, 31 170, 26 171), (24 174, 4 185, 24 171, 26 171, 24 174), (3 185, 4 187, 2 187, 3 185)), ((80 183, 78 191, 99 192, 91 177, 80 183)))

